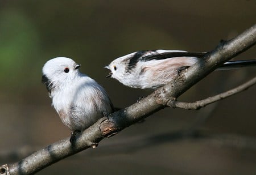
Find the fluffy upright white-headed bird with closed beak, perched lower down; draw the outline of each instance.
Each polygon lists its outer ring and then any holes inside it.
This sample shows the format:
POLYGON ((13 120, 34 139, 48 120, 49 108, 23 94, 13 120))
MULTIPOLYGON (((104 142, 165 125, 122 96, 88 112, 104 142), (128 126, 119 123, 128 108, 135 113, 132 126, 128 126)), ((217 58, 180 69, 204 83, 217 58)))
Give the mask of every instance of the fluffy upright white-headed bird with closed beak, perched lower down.
POLYGON ((78 133, 114 111, 105 89, 82 74, 80 66, 71 58, 57 57, 42 69, 42 83, 61 121, 71 130, 71 143, 78 133))

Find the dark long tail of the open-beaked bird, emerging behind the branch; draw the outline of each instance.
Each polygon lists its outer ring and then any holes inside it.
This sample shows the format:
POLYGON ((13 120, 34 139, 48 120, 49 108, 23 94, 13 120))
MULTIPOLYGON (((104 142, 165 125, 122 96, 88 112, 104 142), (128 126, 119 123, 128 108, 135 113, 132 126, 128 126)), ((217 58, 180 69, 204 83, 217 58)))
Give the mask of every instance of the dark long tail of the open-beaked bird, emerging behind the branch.
POLYGON ((256 59, 228 61, 225 62, 221 67, 218 67, 216 70, 231 70, 249 66, 256 66, 256 59))

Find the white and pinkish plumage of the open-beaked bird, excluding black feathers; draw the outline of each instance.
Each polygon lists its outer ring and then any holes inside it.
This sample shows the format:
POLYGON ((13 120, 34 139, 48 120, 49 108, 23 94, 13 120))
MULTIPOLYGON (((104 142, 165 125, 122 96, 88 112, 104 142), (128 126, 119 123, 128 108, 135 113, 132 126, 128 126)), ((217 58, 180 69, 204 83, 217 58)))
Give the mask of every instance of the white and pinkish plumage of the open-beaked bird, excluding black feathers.
MULTIPOLYGON (((146 52, 143 57, 155 53, 186 52, 184 50, 155 50, 146 52)), ((111 77, 117 79, 125 86, 132 88, 155 89, 167 84, 172 80, 182 66, 193 65, 196 57, 172 57, 166 59, 152 59, 150 61, 138 61, 136 66, 127 70, 130 59, 137 52, 127 54, 112 61, 108 69, 112 72, 111 77), (114 69, 116 67, 116 69, 114 69)))

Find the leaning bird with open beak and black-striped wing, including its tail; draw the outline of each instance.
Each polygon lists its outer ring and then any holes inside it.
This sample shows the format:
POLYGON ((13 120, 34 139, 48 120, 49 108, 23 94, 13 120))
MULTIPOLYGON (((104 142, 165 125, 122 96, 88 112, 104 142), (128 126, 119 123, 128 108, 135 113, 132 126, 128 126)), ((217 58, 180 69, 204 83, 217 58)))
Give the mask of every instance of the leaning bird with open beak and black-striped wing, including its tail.
MULTIPOLYGON (((106 76, 131 88, 156 89, 171 82, 182 70, 203 59, 205 52, 184 50, 142 50, 110 62, 106 76)), ((218 70, 256 66, 256 59, 225 62, 218 70)))

